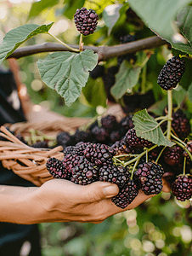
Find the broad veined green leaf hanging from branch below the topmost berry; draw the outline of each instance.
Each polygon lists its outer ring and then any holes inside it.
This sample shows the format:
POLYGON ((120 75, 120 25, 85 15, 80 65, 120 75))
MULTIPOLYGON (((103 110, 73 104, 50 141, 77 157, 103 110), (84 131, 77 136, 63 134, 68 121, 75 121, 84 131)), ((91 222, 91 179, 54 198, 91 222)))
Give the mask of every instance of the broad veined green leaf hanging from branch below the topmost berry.
POLYGON ((71 106, 81 95, 88 81, 89 71, 98 64, 98 55, 86 49, 79 54, 55 52, 45 60, 37 61, 42 81, 65 98, 71 106))

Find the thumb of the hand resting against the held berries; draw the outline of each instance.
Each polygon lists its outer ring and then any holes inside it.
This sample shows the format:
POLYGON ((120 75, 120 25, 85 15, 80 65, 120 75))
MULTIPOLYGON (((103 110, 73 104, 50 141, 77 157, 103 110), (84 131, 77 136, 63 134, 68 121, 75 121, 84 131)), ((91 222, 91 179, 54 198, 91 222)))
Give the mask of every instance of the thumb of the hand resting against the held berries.
POLYGON ((83 203, 101 201, 111 198, 119 193, 119 188, 116 184, 107 182, 94 182, 87 186, 83 186, 81 199, 83 203))

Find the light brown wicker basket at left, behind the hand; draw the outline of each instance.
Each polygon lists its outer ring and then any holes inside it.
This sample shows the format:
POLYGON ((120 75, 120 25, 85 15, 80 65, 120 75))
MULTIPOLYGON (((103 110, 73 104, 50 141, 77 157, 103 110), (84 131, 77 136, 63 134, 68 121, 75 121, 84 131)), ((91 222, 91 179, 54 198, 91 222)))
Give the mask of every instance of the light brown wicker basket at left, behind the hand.
POLYGON ((22 136, 29 136, 31 129, 35 129, 49 136, 54 136, 61 131, 73 132, 82 125, 85 125, 88 119, 64 119, 57 122, 42 123, 16 123, 14 125, 7 124, 1 127, 0 136, 8 141, 0 140, 0 160, 5 168, 12 170, 15 174, 25 178, 37 186, 52 179, 46 168, 47 160, 55 157, 59 160, 64 158, 63 148, 61 146, 48 148, 32 148, 15 137, 10 131, 22 136))

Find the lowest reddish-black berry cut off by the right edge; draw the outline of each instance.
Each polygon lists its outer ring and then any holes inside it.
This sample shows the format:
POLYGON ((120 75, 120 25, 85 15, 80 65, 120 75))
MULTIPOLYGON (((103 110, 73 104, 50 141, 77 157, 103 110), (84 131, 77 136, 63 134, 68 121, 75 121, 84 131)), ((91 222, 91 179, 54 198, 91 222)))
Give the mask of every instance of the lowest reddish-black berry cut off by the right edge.
POLYGON ((192 176, 180 175, 172 183, 172 194, 178 201, 189 200, 192 196, 192 176))

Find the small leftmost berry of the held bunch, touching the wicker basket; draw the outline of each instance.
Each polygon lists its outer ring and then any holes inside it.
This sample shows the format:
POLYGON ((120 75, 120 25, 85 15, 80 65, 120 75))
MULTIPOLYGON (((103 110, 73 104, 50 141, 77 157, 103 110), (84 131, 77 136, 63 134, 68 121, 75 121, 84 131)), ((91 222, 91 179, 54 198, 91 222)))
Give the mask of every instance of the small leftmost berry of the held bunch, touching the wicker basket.
POLYGON ((56 159, 56 158, 49 158, 46 167, 48 169, 48 172, 56 178, 65 178, 70 179, 67 172, 65 172, 65 166, 63 165, 62 161, 56 159))

